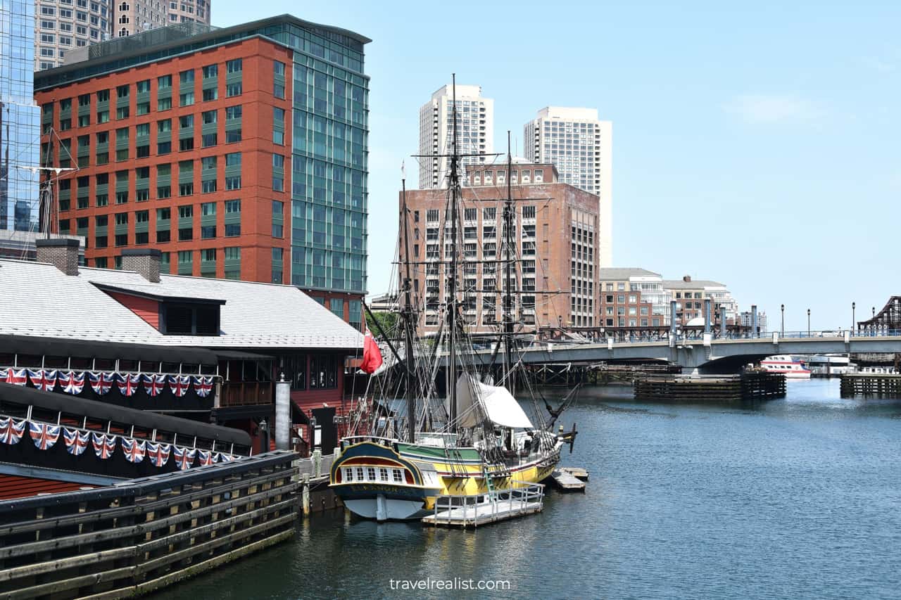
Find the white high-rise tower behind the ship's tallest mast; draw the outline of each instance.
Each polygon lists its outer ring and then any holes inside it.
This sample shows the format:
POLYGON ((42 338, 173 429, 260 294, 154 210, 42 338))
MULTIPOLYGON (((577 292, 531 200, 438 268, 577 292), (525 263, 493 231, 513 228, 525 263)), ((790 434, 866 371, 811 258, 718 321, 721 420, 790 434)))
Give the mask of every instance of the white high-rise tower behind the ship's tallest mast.
MULTIPOLYGON (((419 109, 420 154, 451 154, 453 94, 453 86, 443 86, 419 109)), ((457 86, 457 151, 460 154, 491 154, 495 151, 494 133, 495 101, 482 97, 481 86, 457 86)), ((485 161, 485 157, 462 159, 464 165, 485 161)), ((450 168, 450 158, 419 159, 419 187, 446 187, 450 168)), ((460 177, 463 177, 465 167, 460 168, 460 177)))

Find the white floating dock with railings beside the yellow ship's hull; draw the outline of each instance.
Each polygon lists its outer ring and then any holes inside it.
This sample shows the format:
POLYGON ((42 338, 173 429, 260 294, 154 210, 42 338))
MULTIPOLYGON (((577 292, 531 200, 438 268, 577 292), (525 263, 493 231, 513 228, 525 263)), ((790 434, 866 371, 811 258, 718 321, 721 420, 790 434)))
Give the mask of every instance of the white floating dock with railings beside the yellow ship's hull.
POLYGON ((423 517, 423 523, 444 527, 478 527, 535 514, 544 505, 543 484, 514 481, 509 489, 485 494, 440 495, 435 498, 434 513, 423 517))

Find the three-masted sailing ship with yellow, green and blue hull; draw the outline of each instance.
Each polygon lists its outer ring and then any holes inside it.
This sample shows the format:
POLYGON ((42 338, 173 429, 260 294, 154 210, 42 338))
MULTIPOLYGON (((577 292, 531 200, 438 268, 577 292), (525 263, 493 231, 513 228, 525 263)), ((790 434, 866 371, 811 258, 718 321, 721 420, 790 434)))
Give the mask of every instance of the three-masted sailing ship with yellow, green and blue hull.
MULTIPOLYGON (((447 278, 438 333, 430 339, 420 339, 416 333, 420 310, 412 285, 404 192, 399 332, 381 331, 369 313, 390 355, 382 372, 369 378, 368 387, 373 389, 367 390, 350 417, 354 434, 341 439, 332 463, 330 484, 335 494, 352 513, 379 521, 422 517, 433 510, 441 495, 460 496, 464 502, 462 496, 503 494, 506 489, 540 482, 556 468, 563 445, 569 443, 571 450, 576 435, 575 425, 571 432, 563 433, 562 427, 554 432, 575 389, 554 408, 531 386, 519 360, 526 341, 516 332, 514 315, 514 269, 519 260, 511 177, 507 177, 504 243, 497 261, 505 274, 504 317, 490 355, 476 350, 468 332, 461 308, 473 292, 460 286, 460 271, 467 261, 460 252, 460 168, 465 155, 458 152, 456 94, 453 106, 451 154, 442 157, 451 163, 445 206, 448 226, 441 228, 446 237, 443 245, 451 251, 438 262, 447 278), (441 369, 443 394, 437 383, 441 369), (517 389, 531 396, 531 417, 514 397, 517 389)), ((509 150, 507 158, 512 162, 509 150)), ((479 337, 485 340, 484 335, 479 337)))

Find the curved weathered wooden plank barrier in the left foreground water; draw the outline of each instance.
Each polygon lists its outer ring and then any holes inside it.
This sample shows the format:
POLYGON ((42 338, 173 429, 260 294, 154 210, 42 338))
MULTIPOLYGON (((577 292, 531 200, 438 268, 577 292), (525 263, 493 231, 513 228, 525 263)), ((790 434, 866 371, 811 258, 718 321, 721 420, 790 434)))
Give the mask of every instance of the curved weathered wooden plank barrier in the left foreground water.
POLYGON ((146 594, 284 541, 294 452, 0 502, 0 597, 146 594))

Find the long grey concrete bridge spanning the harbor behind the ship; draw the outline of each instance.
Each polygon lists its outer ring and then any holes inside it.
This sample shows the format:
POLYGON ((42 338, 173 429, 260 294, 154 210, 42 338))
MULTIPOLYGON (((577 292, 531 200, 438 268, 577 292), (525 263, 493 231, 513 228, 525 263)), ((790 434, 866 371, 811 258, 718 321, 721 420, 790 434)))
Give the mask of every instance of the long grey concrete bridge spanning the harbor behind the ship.
MULTIPOLYGON (((696 338, 680 336, 659 341, 602 343, 546 343, 517 350, 525 364, 595 362, 626 363, 656 360, 678 365, 688 372, 729 373, 742 365, 773 354, 827 354, 850 352, 901 352, 901 331, 869 332, 778 332, 756 337, 718 338, 705 333, 696 338), (858 333, 851 335, 851 333, 858 333)), ((487 363, 491 350, 478 350, 476 356, 487 363)), ((478 359, 477 359, 478 362, 478 359)))

